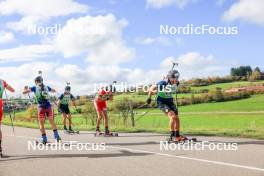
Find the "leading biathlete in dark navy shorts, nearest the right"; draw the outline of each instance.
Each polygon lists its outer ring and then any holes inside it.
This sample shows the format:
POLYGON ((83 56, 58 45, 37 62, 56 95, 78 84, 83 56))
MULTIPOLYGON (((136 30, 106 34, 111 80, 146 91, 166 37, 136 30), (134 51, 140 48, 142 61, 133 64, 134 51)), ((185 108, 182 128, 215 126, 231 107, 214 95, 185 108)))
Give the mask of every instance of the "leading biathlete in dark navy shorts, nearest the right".
POLYGON ((177 70, 171 70, 167 74, 165 80, 150 87, 147 99, 147 103, 150 104, 151 96, 157 93, 157 105, 170 119, 170 141, 175 142, 187 140, 186 137, 180 135, 178 108, 173 100, 173 93, 176 93, 179 84, 179 72, 177 70))

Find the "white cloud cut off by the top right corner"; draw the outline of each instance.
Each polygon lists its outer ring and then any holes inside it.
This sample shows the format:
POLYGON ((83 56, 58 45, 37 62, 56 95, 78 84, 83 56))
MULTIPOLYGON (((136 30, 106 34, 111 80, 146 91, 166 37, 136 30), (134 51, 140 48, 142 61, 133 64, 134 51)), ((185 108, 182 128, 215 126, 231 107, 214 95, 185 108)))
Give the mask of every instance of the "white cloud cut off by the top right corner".
POLYGON ((223 15, 223 20, 232 22, 241 20, 245 22, 264 25, 264 1, 240 0, 234 3, 223 15))

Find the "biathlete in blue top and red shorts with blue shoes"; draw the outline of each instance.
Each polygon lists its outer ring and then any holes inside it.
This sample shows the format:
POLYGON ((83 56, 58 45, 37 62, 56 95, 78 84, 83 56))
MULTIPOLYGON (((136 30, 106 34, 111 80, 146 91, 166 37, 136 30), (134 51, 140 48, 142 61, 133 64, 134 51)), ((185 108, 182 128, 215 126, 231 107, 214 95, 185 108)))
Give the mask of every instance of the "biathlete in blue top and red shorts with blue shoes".
POLYGON ((50 103, 50 95, 49 93, 55 93, 55 89, 50 88, 49 86, 44 85, 42 76, 38 76, 35 78, 35 86, 24 87, 23 94, 29 94, 30 92, 33 92, 35 94, 36 103, 38 104, 38 122, 39 122, 39 128, 41 132, 41 142, 43 144, 48 143, 48 138, 46 135, 45 130, 45 119, 46 117, 49 119, 49 123, 51 125, 51 128, 53 129, 54 138, 57 142, 61 142, 61 138, 59 136, 57 126, 54 122, 53 117, 53 110, 52 105, 50 103))

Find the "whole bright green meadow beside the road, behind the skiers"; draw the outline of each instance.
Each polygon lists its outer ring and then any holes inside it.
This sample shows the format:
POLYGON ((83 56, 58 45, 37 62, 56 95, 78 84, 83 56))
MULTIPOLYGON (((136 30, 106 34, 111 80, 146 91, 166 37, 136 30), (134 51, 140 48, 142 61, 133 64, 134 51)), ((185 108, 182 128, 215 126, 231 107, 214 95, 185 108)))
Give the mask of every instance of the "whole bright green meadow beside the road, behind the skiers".
MULTIPOLYGON (((111 129, 125 132, 166 133, 168 131, 169 120, 158 109, 141 109, 137 113, 136 127, 131 127, 130 120, 124 124, 121 117, 110 112, 111 129), (140 117, 140 114, 146 111, 149 113, 140 117)), ((25 112, 18 113, 15 125, 37 128, 36 121, 24 120, 25 115, 25 112)), ((85 119, 82 115, 74 115, 73 118, 75 128, 95 129, 90 119, 85 119)), ((182 106, 180 118, 184 134, 264 139, 264 95, 231 102, 182 106)), ((60 115, 57 115, 55 120, 62 128, 60 115)), ((5 118, 4 124, 10 124, 9 118, 5 118)))

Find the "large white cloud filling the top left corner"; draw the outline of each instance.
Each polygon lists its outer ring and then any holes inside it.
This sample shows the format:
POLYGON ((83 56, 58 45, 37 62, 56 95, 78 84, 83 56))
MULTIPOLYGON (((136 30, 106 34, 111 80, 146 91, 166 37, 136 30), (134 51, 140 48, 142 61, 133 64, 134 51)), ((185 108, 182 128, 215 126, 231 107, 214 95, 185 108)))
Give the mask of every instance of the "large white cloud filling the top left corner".
POLYGON ((0 2, 0 15, 19 15, 19 21, 9 22, 8 28, 26 33, 28 25, 39 25, 51 17, 86 13, 88 6, 74 0, 4 0, 0 2))

